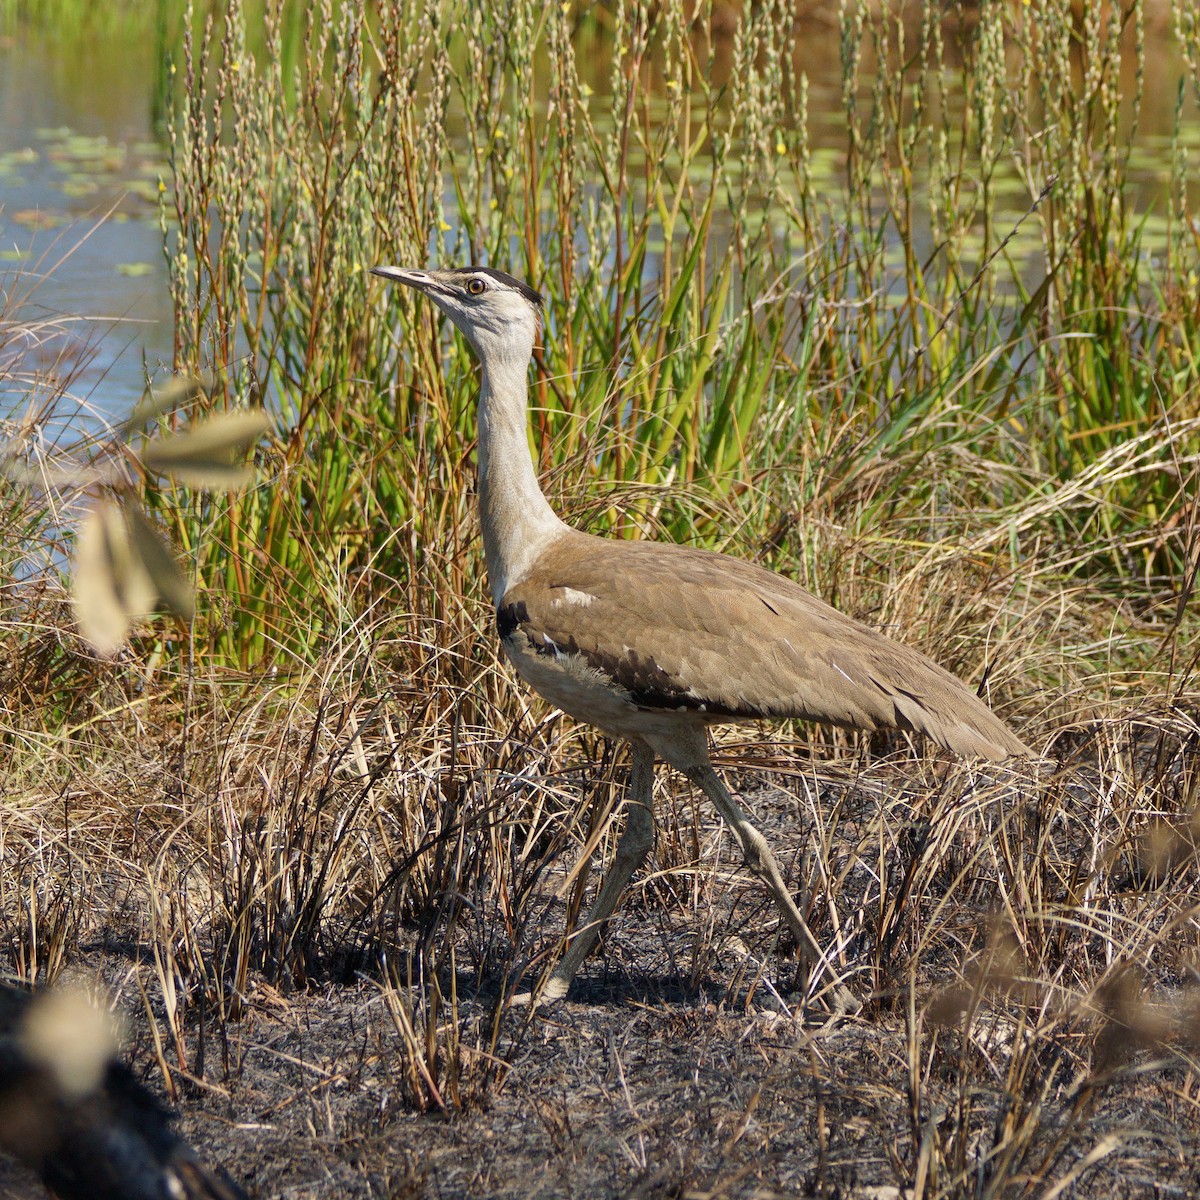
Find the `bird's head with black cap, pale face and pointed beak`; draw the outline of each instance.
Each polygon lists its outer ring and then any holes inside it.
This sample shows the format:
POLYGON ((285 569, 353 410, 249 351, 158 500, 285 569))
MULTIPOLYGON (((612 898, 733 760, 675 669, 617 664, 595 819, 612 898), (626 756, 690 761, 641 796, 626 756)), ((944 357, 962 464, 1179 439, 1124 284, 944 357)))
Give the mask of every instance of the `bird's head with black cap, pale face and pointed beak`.
POLYGON ((497 360, 528 361, 541 330, 541 295, 528 283, 491 266, 415 271, 373 266, 372 274, 424 292, 457 326, 487 366, 497 360))

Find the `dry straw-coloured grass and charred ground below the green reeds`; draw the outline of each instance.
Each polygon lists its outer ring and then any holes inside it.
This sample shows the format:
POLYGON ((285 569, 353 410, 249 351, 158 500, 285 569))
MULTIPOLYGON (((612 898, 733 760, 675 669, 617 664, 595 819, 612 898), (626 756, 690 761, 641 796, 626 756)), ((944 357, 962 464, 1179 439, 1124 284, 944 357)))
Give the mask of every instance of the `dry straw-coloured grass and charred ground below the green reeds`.
MULTIPOLYGON (((919 637, 922 593, 890 578, 919 637)), ((931 610, 970 628, 985 600, 964 584, 931 610)), ((1062 601, 1073 628, 1087 606, 1062 601)), ((1186 1193, 1198 728, 1152 637, 1136 712, 1134 634, 1109 674, 1104 637, 1075 644, 1085 709, 1044 690, 1043 619, 1012 623, 991 653, 1037 767, 722 738, 872 997, 822 1032, 793 1015, 774 911, 665 774, 602 956, 568 1004, 511 1008, 583 904, 580 847, 611 853, 619 764, 506 678, 474 602, 468 642, 395 624, 294 678, 185 689, 160 667, 118 701, 127 664, 97 665, 83 694, 107 703, 53 752, 8 749, 5 970, 106 980, 190 1136, 257 1194, 518 1195, 546 1164, 533 1194, 1138 1195, 1151 1175, 1186 1193), (473 682, 433 682, 439 654, 473 682)))

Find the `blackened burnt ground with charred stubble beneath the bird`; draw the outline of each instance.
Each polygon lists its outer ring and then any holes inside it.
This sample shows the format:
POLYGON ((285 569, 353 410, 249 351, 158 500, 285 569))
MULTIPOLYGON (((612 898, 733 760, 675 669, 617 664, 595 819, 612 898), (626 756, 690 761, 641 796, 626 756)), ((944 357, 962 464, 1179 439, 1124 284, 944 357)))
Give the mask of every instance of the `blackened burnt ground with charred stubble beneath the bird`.
MULTIPOLYGON (((179 1129, 251 1196, 281 1200, 1200 1195, 1187 1048, 1118 1031, 1115 1069, 1090 1074, 1094 1022, 984 995, 970 1022, 937 1025, 919 962, 911 991, 802 1020, 769 910, 731 865, 701 908, 644 888, 571 998, 532 1018, 504 1006, 494 1039, 496 980, 460 971, 457 1014, 432 1034, 416 1022, 418 1050, 438 1048, 432 1087, 377 979, 259 985, 223 1036, 193 1010, 204 1081, 176 1074, 179 1129)), ((131 1012, 136 1067, 161 1092, 131 1012)), ((0 1164, 0 1198, 43 1194, 0 1164)))

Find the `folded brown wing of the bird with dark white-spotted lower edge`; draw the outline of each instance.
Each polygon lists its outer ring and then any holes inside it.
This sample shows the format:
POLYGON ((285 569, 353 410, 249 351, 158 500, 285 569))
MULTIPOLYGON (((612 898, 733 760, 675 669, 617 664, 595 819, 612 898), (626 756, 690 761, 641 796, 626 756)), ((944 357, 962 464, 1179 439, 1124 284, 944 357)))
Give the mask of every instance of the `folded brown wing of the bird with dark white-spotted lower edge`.
POLYGON ((502 637, 578 654, 642 708, 917 730, 965 755, 1027 755, 925 655, 752 563, 570 534, 497 606, 502 637))

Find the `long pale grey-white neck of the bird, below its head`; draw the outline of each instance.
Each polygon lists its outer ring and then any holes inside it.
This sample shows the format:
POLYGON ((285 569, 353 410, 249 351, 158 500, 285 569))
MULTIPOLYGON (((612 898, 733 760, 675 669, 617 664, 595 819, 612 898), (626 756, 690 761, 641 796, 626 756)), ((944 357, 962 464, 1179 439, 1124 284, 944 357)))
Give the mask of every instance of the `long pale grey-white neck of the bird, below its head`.
POLYGON ((528 355, 493 360, 479 395, 479 516, 497 604, 566 528, 542 494, 529 455, 528 371, 528 355))

